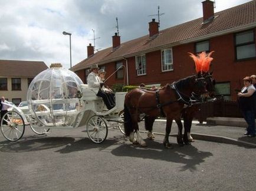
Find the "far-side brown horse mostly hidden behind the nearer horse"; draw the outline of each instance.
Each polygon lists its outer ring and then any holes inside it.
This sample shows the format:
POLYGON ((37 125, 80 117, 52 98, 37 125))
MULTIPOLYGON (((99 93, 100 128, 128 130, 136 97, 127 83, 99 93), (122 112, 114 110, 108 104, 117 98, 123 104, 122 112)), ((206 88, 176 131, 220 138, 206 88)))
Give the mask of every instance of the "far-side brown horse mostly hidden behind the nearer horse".
MULTIPOLYGON (((188 145, 189 142, 193 142, 193 138, 191 136, 191 125, 192 125, 193 116, 195 116, 195 113, 198 112, 198 109, 202 102, 205 102, 207 101, 207 99, 212 98, 214 96, 215 80, 212 78, 212 73, 204 72, 202 76, 204 76, 205 78, 206 89, 208 91, 209 97, 206 97, 206 100, 202 100, 202 97, 200 95, 196 95, 195 93, 192 93, 192 97, 191 97, 191 99, 193 100, 192 105, 182 109, 182 116, 184 121, 183 139, 182 139, 182 125, 180 125, 182 124, 181 119, 180 118, 175 119, 179 127, 177 142, 180 146, 182 146, 183 143, 188 145)), ((150 116, 145 116, 145 128, 146 130, 148 130, 147 136, 149 137, 149 139, 154 138, 152 129, 153 129, 153 123, 155 122, 155 119, 156 118, 152 118, 150 116)))

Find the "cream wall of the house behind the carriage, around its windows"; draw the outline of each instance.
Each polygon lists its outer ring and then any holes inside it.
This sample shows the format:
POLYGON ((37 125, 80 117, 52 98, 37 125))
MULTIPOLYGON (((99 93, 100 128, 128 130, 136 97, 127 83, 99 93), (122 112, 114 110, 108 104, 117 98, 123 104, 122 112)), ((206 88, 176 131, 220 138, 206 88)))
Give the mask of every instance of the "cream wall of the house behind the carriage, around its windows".
POLYGON ((8 91, 0 91, 0 96, 4 96, 9 102, 12 102, 12 99, 18 98, 21 101, 27 100, 28 78, 21 78, 21 91, 12 91, 12 79, 7 78, 7 88, 8 91))

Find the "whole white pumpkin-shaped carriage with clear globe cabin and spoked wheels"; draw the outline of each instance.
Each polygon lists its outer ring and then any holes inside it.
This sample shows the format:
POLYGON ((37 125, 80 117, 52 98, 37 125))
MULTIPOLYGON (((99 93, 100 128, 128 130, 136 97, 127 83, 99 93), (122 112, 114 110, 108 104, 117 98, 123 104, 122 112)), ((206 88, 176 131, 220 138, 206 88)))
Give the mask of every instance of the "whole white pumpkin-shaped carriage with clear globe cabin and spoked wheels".
MULTIPOLYGON (((38 135, 50 129, 86 126, 88 138, 101 143, 107 138, 108 125, 123 131, 123 104, 126 92, 116 93, 116 106, 107 110, 103 99, 88 89, 76 73, 60 64, 38 74, 28 88, 28 111, 9 105, 1 119, 1 132, 10 141, 19 140, 25 126, 38 135)), ((8 104, 8 103, 7 103, 8 104)))

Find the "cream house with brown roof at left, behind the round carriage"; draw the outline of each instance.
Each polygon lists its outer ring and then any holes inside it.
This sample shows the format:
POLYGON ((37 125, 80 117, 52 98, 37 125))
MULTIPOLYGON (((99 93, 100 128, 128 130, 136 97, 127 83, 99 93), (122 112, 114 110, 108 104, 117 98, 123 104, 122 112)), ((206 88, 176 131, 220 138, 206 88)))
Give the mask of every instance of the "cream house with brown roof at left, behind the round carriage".
POLYGON ((15 105, 27 100, 30 82, 47 68, 44 62, 0 60, 0 96, 15 105))

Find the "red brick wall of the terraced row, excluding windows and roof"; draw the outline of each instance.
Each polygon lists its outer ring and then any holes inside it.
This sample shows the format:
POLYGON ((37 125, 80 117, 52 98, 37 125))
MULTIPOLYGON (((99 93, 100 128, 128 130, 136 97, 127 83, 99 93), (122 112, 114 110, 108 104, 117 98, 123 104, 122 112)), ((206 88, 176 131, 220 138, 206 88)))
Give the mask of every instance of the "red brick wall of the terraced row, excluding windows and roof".
MULTIPOLYGON (((256 33, 255 33, 256 39, 256 33)), ((256 59, 247 61, 235 61, 234 34, 218 36, 209 39, 212 54, 211 71, 213 71, 216 82, 230 82, 232 99, 237 99, 235 88, 242 88, 242 78, 256 74, 256 59)), ((146 75, 137 76, 135 68, 135 56, 127 58, 129 70, 129 85, 139 85, 140 83, 153 84, 172 83, 178 79, 195 74, 195 63, 189 57, 188 52, 195 53, 195 43, 174 46, 173 51, 173 71, 161 72, 161 51, 146 53, 146 75)), ((123 60, 126 66, 126 61, 123 60)), ((116 70, 116 62, 107 63, 107 77, 116 70)), ((84 70, 77 72, 81 79, 84 79, 84 70)), ((83 80, 84 81, 84 80, 83 80)), ((107 84, 122 83, 123 79, 116 79, 116 75, 111 76, 107 84)), ((126 82, 126 80, 125 80, 126 82)))

